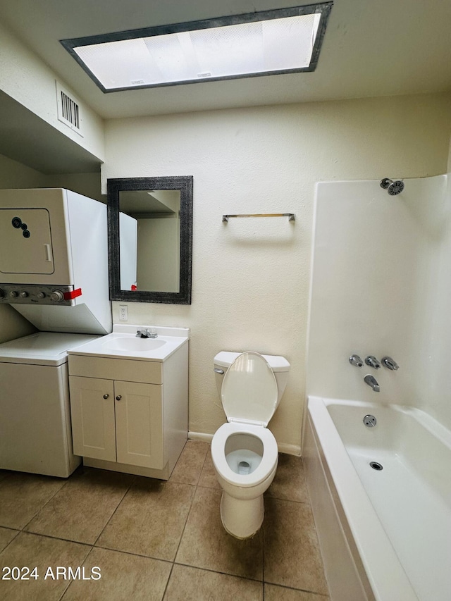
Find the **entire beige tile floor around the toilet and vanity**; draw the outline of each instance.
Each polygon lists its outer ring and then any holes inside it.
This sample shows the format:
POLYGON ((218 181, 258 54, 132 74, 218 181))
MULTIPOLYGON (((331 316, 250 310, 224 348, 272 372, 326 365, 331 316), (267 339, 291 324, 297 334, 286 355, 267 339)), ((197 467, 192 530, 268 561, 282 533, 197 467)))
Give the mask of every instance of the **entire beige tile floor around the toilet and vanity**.
POLYGON ((0 599, 328 600, 301 459, 280 454, 252 539, 224 531, 220 499, 206 442, 187 442, 168 482, 0 470, 0 599), (36 577, 5 580, 5 566, 36 577))

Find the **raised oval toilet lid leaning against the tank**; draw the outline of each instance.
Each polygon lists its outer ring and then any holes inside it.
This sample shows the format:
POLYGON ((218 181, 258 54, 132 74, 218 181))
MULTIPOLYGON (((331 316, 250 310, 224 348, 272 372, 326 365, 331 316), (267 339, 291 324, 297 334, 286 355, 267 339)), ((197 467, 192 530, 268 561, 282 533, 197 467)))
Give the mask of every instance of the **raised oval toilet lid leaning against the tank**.
POLYGON ((221 402, 228 421, 268 426, 278 405, 278 385, 261 354, 238 355, 224 376, 221 402))

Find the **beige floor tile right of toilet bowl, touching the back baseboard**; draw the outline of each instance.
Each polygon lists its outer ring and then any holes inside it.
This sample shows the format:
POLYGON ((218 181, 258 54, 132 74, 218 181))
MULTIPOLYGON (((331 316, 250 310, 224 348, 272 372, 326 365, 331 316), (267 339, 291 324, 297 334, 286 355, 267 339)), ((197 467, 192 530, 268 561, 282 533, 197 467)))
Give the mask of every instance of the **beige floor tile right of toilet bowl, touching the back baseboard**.
POLYGON ((276 476, 265 496, 287 501, 310 502, 301 457, 279 454, 276 476))

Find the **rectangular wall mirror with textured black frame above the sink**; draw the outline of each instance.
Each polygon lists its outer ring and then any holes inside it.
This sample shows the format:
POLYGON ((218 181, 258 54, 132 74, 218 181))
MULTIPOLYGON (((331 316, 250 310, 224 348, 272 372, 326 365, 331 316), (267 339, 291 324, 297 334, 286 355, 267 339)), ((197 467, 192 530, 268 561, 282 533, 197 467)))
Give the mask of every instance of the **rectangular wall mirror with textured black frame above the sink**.
POLYGON ((111 300, 191 304, 192 180, 107 180, 111 300))

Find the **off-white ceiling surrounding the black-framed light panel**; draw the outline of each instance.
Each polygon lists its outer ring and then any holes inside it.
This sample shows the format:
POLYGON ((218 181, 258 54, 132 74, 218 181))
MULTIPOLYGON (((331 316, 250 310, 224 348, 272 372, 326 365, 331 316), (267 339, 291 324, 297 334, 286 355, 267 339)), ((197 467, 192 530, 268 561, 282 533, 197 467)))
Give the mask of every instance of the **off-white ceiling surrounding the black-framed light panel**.
POLYGON ((103 118, 451 89, 450 0, 335 0, 313 73, 102 93, 60 39, 286 8, 290 0, 0 0, 0 19, 103 118))

